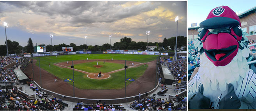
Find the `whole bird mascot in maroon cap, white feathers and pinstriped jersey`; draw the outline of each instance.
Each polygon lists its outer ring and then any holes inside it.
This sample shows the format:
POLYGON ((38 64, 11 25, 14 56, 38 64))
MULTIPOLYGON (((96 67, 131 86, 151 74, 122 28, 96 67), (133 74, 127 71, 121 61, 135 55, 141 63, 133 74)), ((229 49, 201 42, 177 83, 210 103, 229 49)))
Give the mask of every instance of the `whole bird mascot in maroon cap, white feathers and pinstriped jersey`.
POLYGON ((188 83, 189 109, 255 109, 256 74, 249 69, 248 34, 228 6, 200 23, 200 68, 188 83))

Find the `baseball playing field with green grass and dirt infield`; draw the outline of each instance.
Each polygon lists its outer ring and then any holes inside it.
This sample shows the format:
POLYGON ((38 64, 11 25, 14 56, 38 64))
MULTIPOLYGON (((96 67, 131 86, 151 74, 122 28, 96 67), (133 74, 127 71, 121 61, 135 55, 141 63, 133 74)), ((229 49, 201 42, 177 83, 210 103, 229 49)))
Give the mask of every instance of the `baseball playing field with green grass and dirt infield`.
MULTIPOLYGON (((147 70, 147 62, 156 60, 157 55, 78 54, 34 57, 35 65, 38 67, 39 58, 42 70, 56 76, 58 81, 73 79, 72 68, 70 68, 73 60, 74 85, 78 89, 123 89, 125 60, 128 66, 126 78, 136 80, 147 70), (97 77, 99 72, 102 72, 102 78, 97 77)), ((53 80, 53 78, 49 79, 53 80)), ((73 85, 72 81, 68 83, 73 85)), ((131 83, 132 81, 127 80, 126 85, 131 83)))

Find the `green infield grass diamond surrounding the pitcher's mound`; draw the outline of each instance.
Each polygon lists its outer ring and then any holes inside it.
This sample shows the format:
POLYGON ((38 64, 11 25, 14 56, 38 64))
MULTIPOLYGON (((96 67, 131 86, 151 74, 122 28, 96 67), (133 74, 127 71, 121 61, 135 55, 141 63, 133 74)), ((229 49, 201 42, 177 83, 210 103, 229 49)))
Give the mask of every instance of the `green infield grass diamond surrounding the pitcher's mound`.
POLYGON ((74 65, 74 68, 78 70, 83 70, 86 72, 99 73, 101 71, 102 73, 106 73, 106 72, 118 70, 120 68, 124 68, 124 64, 110 63, 110 62, 103 63, 103 61, 93 61, 93 62, 76 64, 74 65), (102 65, 101 68, 94 67, 94 65, 97 65, 97 62, 99 63, 99 65, 102 65))

